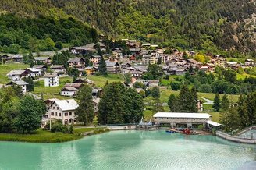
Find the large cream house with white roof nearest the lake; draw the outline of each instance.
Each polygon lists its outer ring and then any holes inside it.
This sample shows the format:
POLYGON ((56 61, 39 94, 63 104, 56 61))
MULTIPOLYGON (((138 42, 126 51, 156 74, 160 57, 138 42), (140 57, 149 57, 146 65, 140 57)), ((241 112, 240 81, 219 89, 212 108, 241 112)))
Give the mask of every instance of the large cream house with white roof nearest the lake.
POLYGON ((48 119, 60 119, 63 125, 76 124, 75 110, 78 104, 74 99, 54 100, 48 107, 48 119))

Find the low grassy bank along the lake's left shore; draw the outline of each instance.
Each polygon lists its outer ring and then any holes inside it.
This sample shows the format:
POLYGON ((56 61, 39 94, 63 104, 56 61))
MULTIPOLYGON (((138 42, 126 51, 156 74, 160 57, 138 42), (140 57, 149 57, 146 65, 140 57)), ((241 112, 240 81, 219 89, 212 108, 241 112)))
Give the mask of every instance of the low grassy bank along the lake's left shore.
POLYGON ((2 141, 19 141, 31 143, 59 143, 78 140, 82 137, 83 136, 78 134, 51 133, 43 130, 37 130, 35 133, 31 134, 0 133, 0 140, 2 141))

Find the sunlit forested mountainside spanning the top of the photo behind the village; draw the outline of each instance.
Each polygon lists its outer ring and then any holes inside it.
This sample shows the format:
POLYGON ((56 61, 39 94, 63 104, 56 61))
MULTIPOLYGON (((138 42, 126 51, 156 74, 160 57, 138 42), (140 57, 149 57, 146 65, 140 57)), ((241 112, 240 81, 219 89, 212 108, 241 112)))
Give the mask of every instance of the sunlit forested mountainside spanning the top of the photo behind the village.
POLYGON ((256 50, 256 6, 250 0, 11 0, 0 2, 0 9, 23 17, 73 16, 114 38, 172 48, 256 50))

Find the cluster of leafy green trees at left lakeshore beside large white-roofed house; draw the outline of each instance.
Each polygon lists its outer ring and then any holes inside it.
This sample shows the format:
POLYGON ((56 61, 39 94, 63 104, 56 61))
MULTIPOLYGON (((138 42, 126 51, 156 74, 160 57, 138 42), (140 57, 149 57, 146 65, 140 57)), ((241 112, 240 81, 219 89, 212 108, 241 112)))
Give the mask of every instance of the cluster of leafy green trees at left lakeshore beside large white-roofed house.
POLYGON ((41 127, 45 111, 44 101, 23 96, 21 87, 0 89, 0 133, 31 133, 41 127))

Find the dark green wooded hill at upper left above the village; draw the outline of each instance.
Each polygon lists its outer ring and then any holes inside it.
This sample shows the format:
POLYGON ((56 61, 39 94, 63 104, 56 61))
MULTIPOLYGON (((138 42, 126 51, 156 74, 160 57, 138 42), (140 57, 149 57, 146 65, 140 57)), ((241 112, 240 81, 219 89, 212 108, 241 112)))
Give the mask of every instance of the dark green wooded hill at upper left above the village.
POLYGON ((54 19, 38 16, 29 19, 6 14, 0 16, 0 51, 23 53, 53 51, 62 44, 82 45, 97 41, 97 31, 69 17, 54 19))

